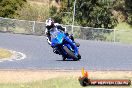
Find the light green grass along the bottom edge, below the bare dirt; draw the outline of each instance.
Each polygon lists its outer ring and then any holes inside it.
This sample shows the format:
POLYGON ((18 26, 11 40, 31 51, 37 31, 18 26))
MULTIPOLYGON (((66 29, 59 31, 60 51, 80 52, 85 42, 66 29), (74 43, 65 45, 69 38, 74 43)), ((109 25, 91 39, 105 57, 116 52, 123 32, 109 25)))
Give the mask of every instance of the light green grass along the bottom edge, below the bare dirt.
MULTIPOLYGON (((132 78, 130 78, 132 80, 132 78)), ((83 88, 76 77, 54 78, 28 83, 0 83, 0 88, 83 88)), ((132 86, 87 86, 86 88, 132 88, 132 86)))

